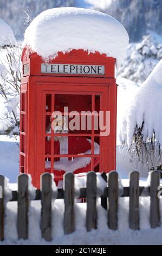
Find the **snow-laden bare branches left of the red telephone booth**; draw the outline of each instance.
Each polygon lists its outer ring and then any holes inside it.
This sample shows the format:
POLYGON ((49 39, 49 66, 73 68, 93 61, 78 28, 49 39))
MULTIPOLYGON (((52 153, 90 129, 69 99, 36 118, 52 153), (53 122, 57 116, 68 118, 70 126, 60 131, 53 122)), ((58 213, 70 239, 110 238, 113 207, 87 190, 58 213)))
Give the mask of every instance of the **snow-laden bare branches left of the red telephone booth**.
POLYGON ((0 49, 0 94, 4 98, 5 112, 0 121, 8 127, 4 132, 18 133, 21 83, 21 45, 0 49))

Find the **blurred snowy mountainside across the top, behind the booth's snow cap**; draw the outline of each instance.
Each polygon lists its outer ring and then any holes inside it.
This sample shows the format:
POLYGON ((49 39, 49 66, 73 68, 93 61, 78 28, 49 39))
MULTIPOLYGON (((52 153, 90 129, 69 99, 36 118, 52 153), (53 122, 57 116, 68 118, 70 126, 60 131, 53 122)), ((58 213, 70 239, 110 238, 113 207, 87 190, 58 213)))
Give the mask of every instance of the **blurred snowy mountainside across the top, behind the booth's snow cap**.
POLYGON ((22 39, 29 22, 24 11, 29 10, 32 20, 43 10, 72 6, 112 15, 126 27, 131 41, 140 40, 148 30, 162 35, 161 0, 1 0, 0 17, 11 26, 16 38, 22 39))

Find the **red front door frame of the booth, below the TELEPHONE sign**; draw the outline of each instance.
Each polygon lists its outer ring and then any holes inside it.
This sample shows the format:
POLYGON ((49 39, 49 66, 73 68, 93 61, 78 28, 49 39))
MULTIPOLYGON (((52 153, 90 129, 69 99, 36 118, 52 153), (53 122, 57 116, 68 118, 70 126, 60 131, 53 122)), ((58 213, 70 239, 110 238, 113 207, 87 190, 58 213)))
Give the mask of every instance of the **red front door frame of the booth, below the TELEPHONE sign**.
POLYGON ((108 137, 100 137, 100 171, 109 172, 116 166, 116 94, 117 87, 114 78, 79 78, 79 77, 29 77, 28 87, 28 127, 27 127, 27 172, 32 175, 34 185, 40 187, 40 175, 44 165, 42 159, 43 127, 43 92, 67 91, 74 94, 103 93, 101 108, 111 111, 111 133, 108 137), (113 95, 113 96, 112 96, 113 95), (36 133, 36 134, 35 134, 36 133), (103 145, 103 147, 101 147, 103 145))

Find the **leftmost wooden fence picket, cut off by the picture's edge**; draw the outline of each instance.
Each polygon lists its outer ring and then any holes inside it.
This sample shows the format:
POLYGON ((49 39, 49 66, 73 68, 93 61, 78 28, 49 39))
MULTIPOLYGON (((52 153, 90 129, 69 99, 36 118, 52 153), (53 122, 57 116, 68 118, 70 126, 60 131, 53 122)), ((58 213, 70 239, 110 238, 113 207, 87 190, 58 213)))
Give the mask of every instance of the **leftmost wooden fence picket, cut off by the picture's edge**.
POLYGON ((4 240, 4 176, 0 175, 0 241, 4 240))

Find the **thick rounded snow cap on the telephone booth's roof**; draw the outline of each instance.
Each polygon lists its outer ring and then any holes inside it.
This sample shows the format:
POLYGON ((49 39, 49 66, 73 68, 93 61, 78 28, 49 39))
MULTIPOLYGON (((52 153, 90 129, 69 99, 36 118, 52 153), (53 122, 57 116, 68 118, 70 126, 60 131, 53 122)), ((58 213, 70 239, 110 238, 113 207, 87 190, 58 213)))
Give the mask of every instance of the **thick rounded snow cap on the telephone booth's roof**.
POLYGON ((124 26, 100 11, 54 8, 43 11, 25 31, 24 44, 44 59, 58 52, 83 49, 116 58, 119 65, 128 46, 124 26))

